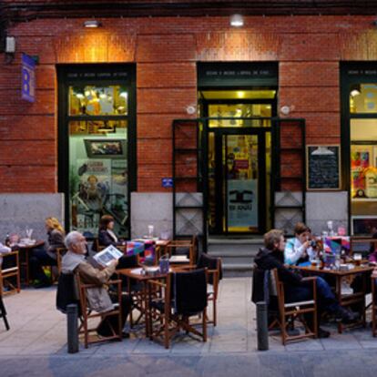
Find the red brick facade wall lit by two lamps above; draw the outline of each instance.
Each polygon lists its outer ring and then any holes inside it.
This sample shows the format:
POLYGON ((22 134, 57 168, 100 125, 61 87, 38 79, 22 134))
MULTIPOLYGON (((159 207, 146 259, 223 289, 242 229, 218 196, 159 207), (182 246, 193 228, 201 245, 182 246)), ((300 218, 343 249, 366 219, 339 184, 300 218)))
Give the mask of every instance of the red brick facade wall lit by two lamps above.
POLYGON ((17 53, 0 56, 0 192, 56 192, 57 63, 137 63, 138 191, 171 175, 171 121, 197 103, 197 61, 280 62, 279 107, 307 119, 308 143, 340 142, 340 60, 375 60, 370 16, 38 19, 14 25, 17 53), (21 52, 40 57, 36 103, 20 99, 21 52))

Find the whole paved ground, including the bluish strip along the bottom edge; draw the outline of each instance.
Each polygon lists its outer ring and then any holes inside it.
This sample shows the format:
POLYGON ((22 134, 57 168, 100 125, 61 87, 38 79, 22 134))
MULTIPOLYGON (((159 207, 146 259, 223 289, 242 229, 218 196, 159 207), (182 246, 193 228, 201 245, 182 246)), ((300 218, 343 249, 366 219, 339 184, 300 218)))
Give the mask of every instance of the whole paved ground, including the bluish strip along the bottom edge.
POLYGON ((356 366, 365 372, 361 375, 377 371, 377 339, 372 338, 370 328, 338 334, 333 326, 329 328, 329 339, 299 341, 285 347, 279 333, 275 333, 269 338, 270 351, 257 352, 255 307, 250 302, 250 290, 250 278, 221 281, 219 324, 216 328, 209 326, 206 343, 178 336, 172 347, 165 350, 136 330, 129 340, 94 344, 87 350, 81 347, 75 355, 66 353, 66 317, 55 309, 56 287, 22 290, 5 297, 11 330, 5 331, 0 321, 0 375, 33 375, 33 371, 38 376, 68 372, 71 376, 103 375, 105 371, 117 375, 118 368, 124 371, 121 365, 134 371, 133 377, 153 373, 155 368, 164 370, 164 375, 178 375, 171 369, 173 366, 181 375, 210 375, 212 370, 217 375, 234 374, 233 370, 238 371, 235 375, 248 371, 245 375, 250 375, 249 368, 255 367, 269 375, 295 376, 322 375, 321 371, 331 367, 334 371, 341 368, 343 375, 356 373, 356 366), (315 365, 311 365, 314 361, 315 365), (345 367, 348 364, 350 368, 345 367), (307 374, 308 365, 317 372, 307 374))

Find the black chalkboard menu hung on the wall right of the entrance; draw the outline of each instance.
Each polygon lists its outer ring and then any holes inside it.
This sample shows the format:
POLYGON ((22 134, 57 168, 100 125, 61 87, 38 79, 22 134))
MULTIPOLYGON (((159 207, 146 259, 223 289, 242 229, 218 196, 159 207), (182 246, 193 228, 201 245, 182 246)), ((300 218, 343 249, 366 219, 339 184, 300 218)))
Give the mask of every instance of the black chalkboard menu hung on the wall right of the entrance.
POLYGON ((307 189, 341 189, 340 146, 307 148, 307 189))

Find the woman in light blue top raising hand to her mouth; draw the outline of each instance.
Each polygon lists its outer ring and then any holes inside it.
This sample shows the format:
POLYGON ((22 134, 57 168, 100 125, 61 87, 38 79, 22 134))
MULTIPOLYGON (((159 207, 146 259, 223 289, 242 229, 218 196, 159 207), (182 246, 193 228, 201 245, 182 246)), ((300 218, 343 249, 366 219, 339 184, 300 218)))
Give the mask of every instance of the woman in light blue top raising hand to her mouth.
POLYGON ((294 227, 293 239, 287 239, 284 250, 284 261, 289 265, 298 265, 314 259, 316 250, 311 247, 311 229, 303 222, 298 222, 294 227))

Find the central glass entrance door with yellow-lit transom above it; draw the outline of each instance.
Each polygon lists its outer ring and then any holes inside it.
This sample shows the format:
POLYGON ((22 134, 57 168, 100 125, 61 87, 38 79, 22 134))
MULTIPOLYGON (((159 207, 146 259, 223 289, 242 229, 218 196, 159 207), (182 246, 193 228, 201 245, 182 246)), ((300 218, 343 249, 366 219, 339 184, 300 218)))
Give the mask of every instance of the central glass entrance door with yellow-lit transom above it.
POLYGON ((203 90, 199 97, 209 126, 209 234, 261 234, 270 227, 276 89, 203 90))

